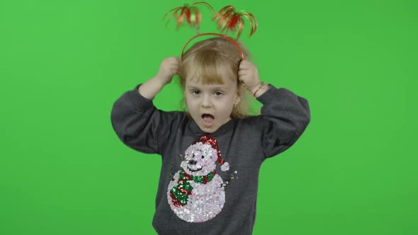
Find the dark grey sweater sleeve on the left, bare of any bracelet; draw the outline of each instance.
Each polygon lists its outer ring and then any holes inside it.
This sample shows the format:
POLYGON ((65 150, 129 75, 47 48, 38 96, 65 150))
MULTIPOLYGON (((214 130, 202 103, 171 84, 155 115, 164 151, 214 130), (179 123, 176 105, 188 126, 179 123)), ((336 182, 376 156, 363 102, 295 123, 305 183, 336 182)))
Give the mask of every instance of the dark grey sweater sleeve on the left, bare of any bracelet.
POLYGON ((128 147, 147 154, 161 154, 162 144, 171 130, 179 127, 183 114, 158 110, 140 95, 135 86, 126 91, 111 111, 111 124, 119 139, 128 147))

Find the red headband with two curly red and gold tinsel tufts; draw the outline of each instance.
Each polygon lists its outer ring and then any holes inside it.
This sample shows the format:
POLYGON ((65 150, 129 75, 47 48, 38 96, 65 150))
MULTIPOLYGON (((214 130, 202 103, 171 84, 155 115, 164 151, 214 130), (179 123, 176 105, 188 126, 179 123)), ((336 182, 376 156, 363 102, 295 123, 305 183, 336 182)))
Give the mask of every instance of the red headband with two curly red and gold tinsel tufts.
MULTIPOLYGON (((181 58, 183 58, 184 50, 186 49, 186 46, 188 45, 191 40, 198 38, 200 36, 205 35, 215 35, 221 38, 225 38, 232 42, 235 47, 237 47, 239 54, 241 55, 242 59, 244 59, 244 53, 242 52, 241 48, 235 42, 235 40, 238 40, 239 36, 242 33, 242 30, 244 29, 244 17, 249 19, 249 22, 251 23, 251 32, 249 33, 249 37, 251 37, 257 28, 257 21, 256 18, 252 15, 252 13, 249 13, 247 11, 235 11, 234 6, 225 6, 222 8, 216 15, 213 17, 213 20, 218 24, 218 30, 220 30, 221 33, 225 31, 225 34, 220 33, 199 33, 200 28, 200 22, 201 22, 201 15, 200 11, 198 9, 198 5, 205 5, 208 8, 210 8, 211 12, 213 12, 212 6, 210 6, 205 1, 198 1, 193 4, 184 4, 184 6, 179 6, 177 8, 171 9, 168 11, 164 18, 172 12, 169 21, 171 18, 176 18, 177 20, 177 26, 176 28, 179 29, 181 25, 183 25, 183 21, 186 18, 186 22, 192 27, 196 29, 196 35, 193 36, 190 40, 186 42, 186 45, 184 45, 183 50, 181 50, 181 58), (232 40, 230 37, 228 37, 228 33, 230 32, 236 32, 236 38, 235 40, 232 40)), ((163 18, 163 21, 164 21, 163 18)), ((168 22, 167 22, 168 23, 168 22)))

